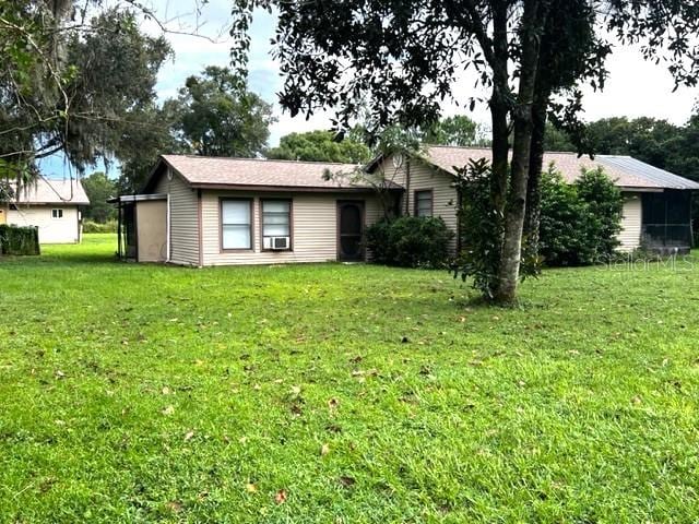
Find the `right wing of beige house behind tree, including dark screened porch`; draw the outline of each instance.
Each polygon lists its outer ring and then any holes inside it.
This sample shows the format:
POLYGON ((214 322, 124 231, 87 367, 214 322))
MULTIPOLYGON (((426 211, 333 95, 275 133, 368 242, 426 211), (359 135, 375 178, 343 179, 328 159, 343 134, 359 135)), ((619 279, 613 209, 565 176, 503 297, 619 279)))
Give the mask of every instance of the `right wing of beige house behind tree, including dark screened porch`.
MULTIPOLYGON (((490 157, 491 152, 486 148, 433 145, 420 158, 379 157, 367 169, 382 171, 389 180, 405 189, 403 213, 441 216, 455 231, 454 166, 490 157)), ((574 153, 545 153, 544 169, 552 164, 568 182, 579 178, 583 168, 597 166, 615 181, 624 194, 620 250, 631 251, 641 245, 663 250, 691 247, 691 193, 699 189, 699 183, 630 156, 596 155, 592 160, 574 153)), ((454 250, 458 249, 457 241, 454 250)))

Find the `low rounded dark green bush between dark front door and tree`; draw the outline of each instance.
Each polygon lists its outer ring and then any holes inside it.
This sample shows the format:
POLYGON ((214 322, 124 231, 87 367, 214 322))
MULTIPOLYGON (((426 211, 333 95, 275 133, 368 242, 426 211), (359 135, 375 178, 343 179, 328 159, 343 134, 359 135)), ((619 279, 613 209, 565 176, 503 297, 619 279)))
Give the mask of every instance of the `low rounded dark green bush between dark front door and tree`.
POLYGON ((454 234, 440 217, 401 216, 367 229, 372 260, 402 267, 446 267, 454 234))

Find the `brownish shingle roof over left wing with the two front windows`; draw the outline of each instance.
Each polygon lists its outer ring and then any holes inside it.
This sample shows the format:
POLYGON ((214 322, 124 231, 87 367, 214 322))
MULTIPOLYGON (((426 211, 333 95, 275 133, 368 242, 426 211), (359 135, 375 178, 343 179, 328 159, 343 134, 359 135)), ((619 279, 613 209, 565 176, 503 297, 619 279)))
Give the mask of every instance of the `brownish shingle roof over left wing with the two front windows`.
MULTIPOLYGON (((197 155, 162 155, 145 189, 153 186, 163 163, 178 172, 192 188, 298 189, 308 191, 366 191, 369 183, 351 183, 348 179, 325 179, 327 171, 352 175, 355 164, 327 162, 268 160, 263 158, 225 158, 197 155)), ((394 184, 398 189, 399 187, 394 184)))

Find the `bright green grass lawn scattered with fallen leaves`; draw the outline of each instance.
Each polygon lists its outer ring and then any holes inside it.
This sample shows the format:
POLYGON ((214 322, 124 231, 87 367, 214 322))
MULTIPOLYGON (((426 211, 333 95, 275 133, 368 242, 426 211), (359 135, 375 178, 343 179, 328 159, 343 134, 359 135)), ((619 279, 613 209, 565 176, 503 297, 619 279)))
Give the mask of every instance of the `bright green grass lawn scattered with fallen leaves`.
POLYGON ((697 522, 699 260, 0 260, 0 522, 697 522), (628 270, 628 269, 627 269, 628 270))

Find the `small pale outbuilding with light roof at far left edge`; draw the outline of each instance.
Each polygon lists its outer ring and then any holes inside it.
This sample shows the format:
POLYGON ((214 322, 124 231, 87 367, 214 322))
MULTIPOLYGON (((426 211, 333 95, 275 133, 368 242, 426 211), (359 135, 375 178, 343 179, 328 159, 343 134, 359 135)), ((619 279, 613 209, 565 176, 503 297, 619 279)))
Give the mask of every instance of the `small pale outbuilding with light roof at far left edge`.
POLYGON ((0 224, 38 227, 39 243, 80 242, 80 209, 90 205, 80 180, 39 178, 14 192, 10 202, 0 202, 0 224))

